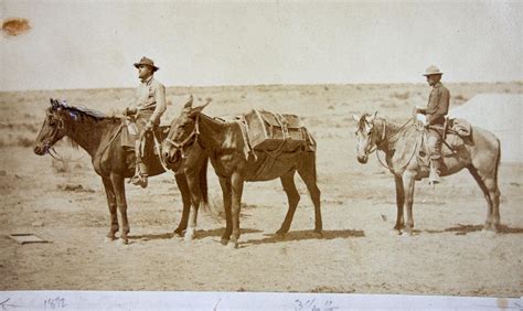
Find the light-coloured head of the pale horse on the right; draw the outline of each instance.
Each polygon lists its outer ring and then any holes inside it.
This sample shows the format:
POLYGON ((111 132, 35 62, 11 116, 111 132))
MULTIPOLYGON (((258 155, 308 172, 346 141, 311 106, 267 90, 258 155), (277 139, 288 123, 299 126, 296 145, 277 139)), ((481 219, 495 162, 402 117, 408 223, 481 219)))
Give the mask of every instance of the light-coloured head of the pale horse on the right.
POLYGON ((376 146, 376 135, 374 120, 376 118, 377 111, 374 115, 364 114, 363 116, 352 115, 354 120, 357 122, 355 130, 356 136, 356 152, 357 161, 360 163, 366 163, 369 160, 369 153, 371 153, 376 146))

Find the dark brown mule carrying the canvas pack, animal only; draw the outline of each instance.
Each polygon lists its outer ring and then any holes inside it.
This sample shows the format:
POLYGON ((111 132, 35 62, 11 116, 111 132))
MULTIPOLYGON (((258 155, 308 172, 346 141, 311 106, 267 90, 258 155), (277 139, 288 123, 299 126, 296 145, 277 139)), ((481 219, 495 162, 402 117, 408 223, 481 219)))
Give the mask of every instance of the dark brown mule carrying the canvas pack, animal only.
MULTIPOLYGON (((267 159, 265 152, 256 152, 246 157, 246 141, 238 122, 226 122, 213 119, 201 114, 205 107, 192 107, 192 101, 185 104, 180 116, 171 124, 168 138, 162 142, 162 154, 168 162, 177 163, 184 160, 184 172, 191 189, 191 215, 185 240, 194 237, 196 227, 196 207, 199 206, 200 190, 198 186, 198 172, 206 159, 220 179, 223 192, 226 229, 222 236, 222 244, 238 246, 239 238, 239 207, 244 182, 268 181, 279 178, 287 193, 289 207, 281 227, 277 234, 289 230, 292 217, 300 200, 295 185, 295 173, 298 172, 306 183, 314 205, 314 232, 321 233, 320 190, 317 185, 316 152, 300 151, 280 153, 271 159, 270 169, 259 173, 259 168, 267 159), (255 159, 256 158, 256 159, 255 159), (232 234, 232 238, 231 238, 232 234)), ((312 139, 312 143, 316 142, 312 139)))

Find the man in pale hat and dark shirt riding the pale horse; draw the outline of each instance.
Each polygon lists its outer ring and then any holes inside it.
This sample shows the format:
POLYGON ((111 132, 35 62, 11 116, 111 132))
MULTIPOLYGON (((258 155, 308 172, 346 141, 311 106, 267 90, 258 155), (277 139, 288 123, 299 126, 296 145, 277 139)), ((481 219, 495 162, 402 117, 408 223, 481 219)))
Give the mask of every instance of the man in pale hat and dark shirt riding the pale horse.
POLYGON ((434 65, 427 68, 424 76, 427 77, 427 83, 433 87, 433 90, 428 97, 427 108, 416 109, 417 112, 425 115, 427 120, 427 148, 430 159, 429 184, 440 182, 439 174, 441 172, 440 159, 445 116, 447 116, 449 111, 450 93, 440 82, 442 74, 444 73, 434 65))

